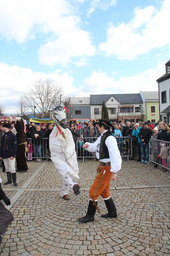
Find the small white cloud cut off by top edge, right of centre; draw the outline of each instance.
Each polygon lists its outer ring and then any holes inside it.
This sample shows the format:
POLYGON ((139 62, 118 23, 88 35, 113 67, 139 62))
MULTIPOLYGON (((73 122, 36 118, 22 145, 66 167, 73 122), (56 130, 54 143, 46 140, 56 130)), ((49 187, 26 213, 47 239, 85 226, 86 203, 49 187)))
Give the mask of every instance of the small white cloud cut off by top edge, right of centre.
POLYGON ((115 5, 117 0, 92 0, 87 16, 90 16, 97 8, 106 11, 109 7, 115 5))

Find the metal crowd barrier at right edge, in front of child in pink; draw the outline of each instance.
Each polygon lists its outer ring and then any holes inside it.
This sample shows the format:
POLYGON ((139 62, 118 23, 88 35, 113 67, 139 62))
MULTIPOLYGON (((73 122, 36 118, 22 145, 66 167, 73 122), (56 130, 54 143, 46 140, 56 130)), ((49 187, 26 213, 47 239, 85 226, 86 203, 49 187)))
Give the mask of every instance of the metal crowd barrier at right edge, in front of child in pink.
MULTIPOLYGON (((164 140, 150 139, 148 164, 150 162, 160 165, 170 171, 170 142, 164 140)), ((168 177, 168 179, 169 178, 170 176, 168 177)))

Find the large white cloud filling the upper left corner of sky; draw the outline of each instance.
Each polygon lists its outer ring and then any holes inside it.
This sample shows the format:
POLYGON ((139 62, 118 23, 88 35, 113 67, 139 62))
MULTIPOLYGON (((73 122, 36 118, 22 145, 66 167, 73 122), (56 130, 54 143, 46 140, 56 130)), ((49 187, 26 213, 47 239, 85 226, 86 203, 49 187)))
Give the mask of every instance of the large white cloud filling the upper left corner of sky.
POLYGON ((45 37, 38 52, 40 62, 49 66, 94 55, 91 36, 80 25, 78 7, 65 0, 0 1, 1 37, 19 44, 45 37))

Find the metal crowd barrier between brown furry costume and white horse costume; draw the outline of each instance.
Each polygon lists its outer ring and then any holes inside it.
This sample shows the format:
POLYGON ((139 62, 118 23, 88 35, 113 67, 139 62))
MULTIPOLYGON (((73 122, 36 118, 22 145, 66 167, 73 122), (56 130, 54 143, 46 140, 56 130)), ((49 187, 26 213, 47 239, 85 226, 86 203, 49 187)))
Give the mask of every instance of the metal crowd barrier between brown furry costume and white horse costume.
POLYGON ((36 159, 50 158, 48 138, 43 138, 43 139, 28 138, 28 141, 30 144, 30 147, 27 147, 28 152, 26 153, 26 158, 28 161, 32 161, 32 159, 35 159, 35 158, 36 159))

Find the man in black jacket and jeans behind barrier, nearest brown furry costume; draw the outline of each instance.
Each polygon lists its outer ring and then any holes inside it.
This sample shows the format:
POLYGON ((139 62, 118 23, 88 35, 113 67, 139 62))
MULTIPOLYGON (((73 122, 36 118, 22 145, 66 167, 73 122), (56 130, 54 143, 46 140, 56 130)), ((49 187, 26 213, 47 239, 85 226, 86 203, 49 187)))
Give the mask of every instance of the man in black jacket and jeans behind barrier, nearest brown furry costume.
POLYGON ((36 130, 34 130, 30 136, 30 138, 34 139, 32 141, 34 143, 34 152, 35 152, 35 157, 37 157, 36 161, 40 162, 42 161, 41 158, 41 148, 43 142, 41 141, 42 138, 44 138, 44 132, 41 131, 41 126, 37 125, 36 130))

